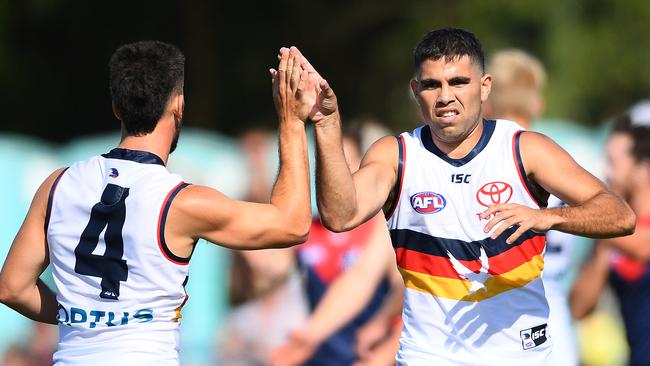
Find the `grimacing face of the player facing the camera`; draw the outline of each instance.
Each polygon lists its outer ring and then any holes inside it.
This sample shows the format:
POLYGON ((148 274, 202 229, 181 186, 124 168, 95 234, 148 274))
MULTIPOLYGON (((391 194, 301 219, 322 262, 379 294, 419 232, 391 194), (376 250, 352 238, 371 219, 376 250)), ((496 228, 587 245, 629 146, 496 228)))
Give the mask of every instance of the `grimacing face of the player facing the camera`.
POLYGON ((481 104, 490 93, 492 77, 469 56, 425 60, 411 89, 434 139, 458 143, 481 121, 481 104))

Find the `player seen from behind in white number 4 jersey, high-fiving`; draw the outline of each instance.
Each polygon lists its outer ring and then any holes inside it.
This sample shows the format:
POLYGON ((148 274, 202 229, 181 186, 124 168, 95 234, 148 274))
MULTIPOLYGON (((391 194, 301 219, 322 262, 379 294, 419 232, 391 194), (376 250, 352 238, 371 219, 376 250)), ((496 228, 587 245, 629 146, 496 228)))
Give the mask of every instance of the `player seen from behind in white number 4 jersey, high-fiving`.
POLYGON ((0 301, 58 324, 55 365, 178 365, 180 311, 198 239, 233 249, 286 247, 311 225, 304 123, 315 88, 297 49, 271 69, 280 171, 270 203, 231 200, 166 169, 182 125, 185 58, 162 42, 111 57, 122 140, 40 186, 0 273, 0 301), (254 225, 251 223, 254 222, 254 225), (52 266, 56 294, 39 276, 52 266))

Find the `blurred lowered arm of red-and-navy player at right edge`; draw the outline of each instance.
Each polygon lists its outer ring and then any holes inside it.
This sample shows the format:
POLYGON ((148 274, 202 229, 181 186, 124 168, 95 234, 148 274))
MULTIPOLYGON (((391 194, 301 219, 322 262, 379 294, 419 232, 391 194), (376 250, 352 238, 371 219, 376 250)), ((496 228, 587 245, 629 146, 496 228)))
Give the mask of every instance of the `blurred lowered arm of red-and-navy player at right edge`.
POLYGON ((571 315, 574 318, 586 317, 598 305, 598 299, 607 285, 610 252, 602 243, 597 243, 593 255, 583 265, 571 289, 571 315))

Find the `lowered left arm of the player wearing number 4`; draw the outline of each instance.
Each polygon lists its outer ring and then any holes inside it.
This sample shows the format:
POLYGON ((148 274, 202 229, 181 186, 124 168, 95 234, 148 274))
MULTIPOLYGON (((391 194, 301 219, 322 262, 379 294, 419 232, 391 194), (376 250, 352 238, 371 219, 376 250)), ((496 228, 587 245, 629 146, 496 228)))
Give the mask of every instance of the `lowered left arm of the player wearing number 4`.
POLYGON ((56 296, 39 276, 50 259, 45 237, 45 213, 50 188, 62 170, 39 187, 0 273, 0 301, 24 316, 56 324, 56 296))

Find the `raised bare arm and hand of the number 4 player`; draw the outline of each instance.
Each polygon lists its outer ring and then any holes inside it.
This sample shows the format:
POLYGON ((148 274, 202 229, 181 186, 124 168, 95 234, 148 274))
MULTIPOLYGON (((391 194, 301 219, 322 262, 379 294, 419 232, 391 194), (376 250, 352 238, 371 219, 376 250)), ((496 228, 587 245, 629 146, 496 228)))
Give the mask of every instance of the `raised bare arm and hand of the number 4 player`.
POLYGON ((280 135, 280 171, 270 203, 231 200, 213 189, 190 186, 172 204, 171 235, 183 237, 189 230, 195 239, 237 249, 283 247, 307 239, 311 208, 304 121, 313 105, 308 98, 314 95, 306 89, 314 85, 295 47, 282 48, 279 58, 278 70, 270 70, 280 135))

